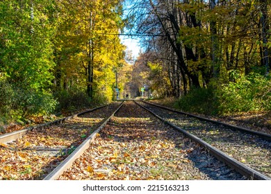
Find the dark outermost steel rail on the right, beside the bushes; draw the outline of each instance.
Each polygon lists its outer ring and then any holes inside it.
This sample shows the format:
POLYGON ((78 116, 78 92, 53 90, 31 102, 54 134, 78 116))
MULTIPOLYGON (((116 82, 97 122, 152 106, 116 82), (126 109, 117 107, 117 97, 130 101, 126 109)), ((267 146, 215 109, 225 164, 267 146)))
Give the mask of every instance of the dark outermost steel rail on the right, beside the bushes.
POLYGON ((149 102, 146 102, 144 100, 141 100, 141 102, 147 103, 149 105, 154 105, 156 107, 161 107, 163 109, 167 109, 167 110, 170 110, 172 112, 179 113, 179 114, 184 114, 184 115, 187 115, 187 116, 192 116, 192 117, 198 118, 201 121, 208 121, 208 122, 215 123, 215 124, 218 124, 218 125, 223 125, 223 126, 231 128, 232 130, 239 130, 240 132, 245 132, 245 133, 248 133, 248 134, 253 134, 253 135, 259 136, 259 137, 261 137, 261 138, 263 138, 265 140, 271 141, 271 134, 267 134, 267 133, 263 133, 263 132, 257 132, 255 130, 249 130, 249 129, 245 128, 245 127, 239 127, 239 126, 236 126, 236 125, 231 125, 231 124, 223 123, 223 122, 220 122, 220 121, 215 121, 215 120, 212 120, 210 118, 204 118, 202 116, 197 116, 195 114, 190 114, 190 113, 187 113, 187 112, 177 111, 177 110, 171 109, 169 107, 164 107, 162 105, 156 105, 154 103, 149 103, 149 102))

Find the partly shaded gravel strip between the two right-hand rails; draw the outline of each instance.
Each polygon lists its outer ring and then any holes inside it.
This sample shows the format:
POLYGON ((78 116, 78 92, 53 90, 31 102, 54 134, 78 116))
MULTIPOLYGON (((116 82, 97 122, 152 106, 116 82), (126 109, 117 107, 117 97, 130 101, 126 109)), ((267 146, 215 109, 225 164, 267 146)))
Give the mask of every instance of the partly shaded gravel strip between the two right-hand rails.
POLYGON ((227 155, 243 162, 243 164, 271 177, 270 141, 265 141, 251 134, 233 131, 207 121, 199 121, 197 118, 176 114, 153 105, 145 103, 142 103, 142 105, 156 112, 167 121, 174 123, 174 125, 222 150, 227 155))

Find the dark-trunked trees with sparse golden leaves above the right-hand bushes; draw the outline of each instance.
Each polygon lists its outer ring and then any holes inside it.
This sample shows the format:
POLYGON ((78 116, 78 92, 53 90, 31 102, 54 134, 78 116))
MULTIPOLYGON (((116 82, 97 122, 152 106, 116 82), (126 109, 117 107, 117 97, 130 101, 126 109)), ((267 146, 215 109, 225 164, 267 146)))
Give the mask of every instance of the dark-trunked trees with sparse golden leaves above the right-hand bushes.
POLYGON ((269 7, 267 1, 145 0, 133 7, 132 18, 137 32, 148 35, 146 51, 171 69, 172 94, 180 96, 177 87, 187 94, 261 68, 268 72, 269 7))

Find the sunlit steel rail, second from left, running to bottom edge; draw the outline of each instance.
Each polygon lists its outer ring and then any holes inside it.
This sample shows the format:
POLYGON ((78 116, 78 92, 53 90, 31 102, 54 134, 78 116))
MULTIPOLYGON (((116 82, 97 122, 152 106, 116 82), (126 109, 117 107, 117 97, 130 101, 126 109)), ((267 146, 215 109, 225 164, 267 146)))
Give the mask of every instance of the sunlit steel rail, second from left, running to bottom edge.
POLYGON ((92 141, 95 140, 96 135, 99 133, 99 131, 106 125, 106 123, 108 123, 108 121, 110 120, 110 118, 112 118, 112 116, 115 115, 115 113, 117 111, 119 111, 119 109, 122 107, 124 101, 121 103, 120 107, 118 107, 115 112, 113 112, 113 114, 111 114, 106 121, 104 121, 104 123, 102 123, 97 130, 95 130, 95 132, 92 132, 92 134, 90 134, 90 136, 88 136, 87 139, 85 139, 85 141, 83 141, 83 143, 81 143, 81 145, 79 145, 79 147, 77 147, 74 152, 72 152, 67 158, 65 158, 58 166, 56 166, 56 168, 54 168, 54 170, 51 171, 51 173, 49 173, 49 175, 47 175, 46 177, 44 177, 43 180, 55 180, 58 179, 58 177, 60 177, 60 175, 62 175, 64 173, 65 170, 67 170, 67 168, 69 168, 70 166, 72 166, 72 163, 78 159, 83 152, 88 149, 90 147, 90 144, 92 143, 92 141))

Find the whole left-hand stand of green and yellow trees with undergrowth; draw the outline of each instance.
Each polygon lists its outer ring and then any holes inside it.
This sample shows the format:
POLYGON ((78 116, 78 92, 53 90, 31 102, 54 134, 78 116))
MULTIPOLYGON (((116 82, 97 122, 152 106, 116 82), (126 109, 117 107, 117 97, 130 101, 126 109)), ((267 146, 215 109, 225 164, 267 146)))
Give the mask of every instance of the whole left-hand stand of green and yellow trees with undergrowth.
POLYGON ((115 98, 122 1, 4 0, 0 10, 0 116, 47 114, 70 105, 65 95, 115 98))

